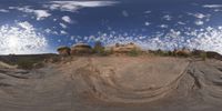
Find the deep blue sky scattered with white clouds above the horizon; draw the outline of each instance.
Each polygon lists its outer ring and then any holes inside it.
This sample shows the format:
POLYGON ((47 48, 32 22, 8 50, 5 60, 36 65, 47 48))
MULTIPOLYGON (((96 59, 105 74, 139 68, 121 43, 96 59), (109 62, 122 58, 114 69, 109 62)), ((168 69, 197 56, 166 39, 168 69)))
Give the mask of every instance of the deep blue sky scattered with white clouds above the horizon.
POLYGON ((0 54, 83 42, 222 53, 222 0, 0 0, 0 54))

